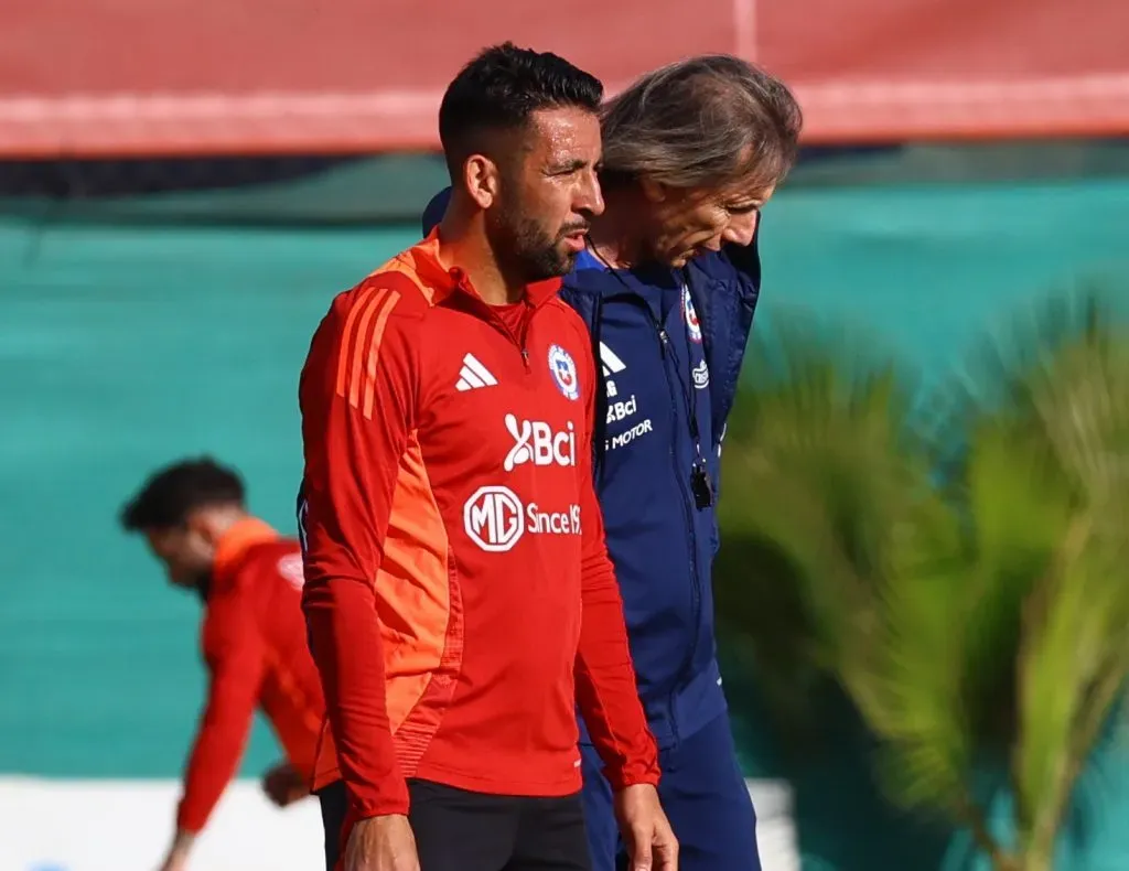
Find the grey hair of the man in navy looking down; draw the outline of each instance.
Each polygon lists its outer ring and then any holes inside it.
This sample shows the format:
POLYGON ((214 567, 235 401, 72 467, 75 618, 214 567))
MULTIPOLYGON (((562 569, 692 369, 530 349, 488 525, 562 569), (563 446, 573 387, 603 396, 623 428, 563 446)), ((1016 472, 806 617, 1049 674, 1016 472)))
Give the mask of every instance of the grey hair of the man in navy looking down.
POLYGON ((788 87, 729 54, 660 67, 604 104, 602 181, 768 188, 796 162, 803 113, 788 87))

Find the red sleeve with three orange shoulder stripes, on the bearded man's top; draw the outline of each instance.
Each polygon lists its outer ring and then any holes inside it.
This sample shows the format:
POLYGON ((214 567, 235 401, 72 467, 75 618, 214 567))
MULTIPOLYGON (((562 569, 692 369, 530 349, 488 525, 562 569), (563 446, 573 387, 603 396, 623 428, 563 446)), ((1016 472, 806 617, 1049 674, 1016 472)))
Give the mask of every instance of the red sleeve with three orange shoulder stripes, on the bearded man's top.
POLYGON ((338 764, 359 819, 406 813, 388 724, 375 583, 413 427, 418 317, 368 279, 334 303, 310 346, 299 404, 305 474, 303 609, 338 764))

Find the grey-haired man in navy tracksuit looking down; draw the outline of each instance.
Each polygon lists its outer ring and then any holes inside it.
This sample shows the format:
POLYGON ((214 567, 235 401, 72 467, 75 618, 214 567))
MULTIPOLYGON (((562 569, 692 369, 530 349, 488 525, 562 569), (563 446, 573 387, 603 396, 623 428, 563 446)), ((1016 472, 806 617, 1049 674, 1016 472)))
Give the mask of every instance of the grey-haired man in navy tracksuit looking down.
MULTIPOLYGON (((710 567, 721 438, 760 291, 760 212, 795 160, 800 124, 788 88, 737 58, 640 77, 603 108, 606 209, 561 290, 604 373, 596 485, 683 871, 760 868, 710 567)), ((444 208, 440 194, 425 233, 444 208)), ((612 871, 623 845, 587 739, 584 776, 595 869, 612 871)))

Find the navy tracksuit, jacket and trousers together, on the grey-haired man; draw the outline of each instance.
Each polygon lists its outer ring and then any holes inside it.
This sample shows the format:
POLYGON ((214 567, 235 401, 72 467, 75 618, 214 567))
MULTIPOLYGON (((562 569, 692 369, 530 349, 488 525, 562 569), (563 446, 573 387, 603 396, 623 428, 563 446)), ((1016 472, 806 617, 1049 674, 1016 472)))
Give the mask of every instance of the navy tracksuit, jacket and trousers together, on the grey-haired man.
MULTIPOLYGON (((446 199, 444 191, 428 204, 425 235, 446 199)), ((610 270, 585 251, 561 290, 603 368, 597 490, 683 871, 760 869, 718 671, 711 585, 721 438, 759 288, 754 238, 674 271, 610 270)), ((612 793, 583 722, 580 735, 594 868, 612 871, 612 856, 625 860, 612 793)))

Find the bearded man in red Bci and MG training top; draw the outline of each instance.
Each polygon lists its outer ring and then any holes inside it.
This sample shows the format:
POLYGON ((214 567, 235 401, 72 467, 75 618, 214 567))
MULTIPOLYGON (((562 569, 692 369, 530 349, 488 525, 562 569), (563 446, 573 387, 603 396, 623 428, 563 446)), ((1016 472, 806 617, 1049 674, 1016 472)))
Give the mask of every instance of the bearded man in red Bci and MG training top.
POLYGON ((334 299, 303 369, 336 743, 315 789, 345 871, 588 869, 577 704, 636 868, 675 868, 593 491, 590 340, 557 299, 603 210, 602 93, 553 54, 471 61, 439 110, 441 226, 334 299))

